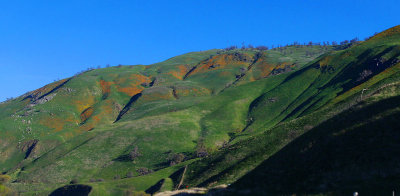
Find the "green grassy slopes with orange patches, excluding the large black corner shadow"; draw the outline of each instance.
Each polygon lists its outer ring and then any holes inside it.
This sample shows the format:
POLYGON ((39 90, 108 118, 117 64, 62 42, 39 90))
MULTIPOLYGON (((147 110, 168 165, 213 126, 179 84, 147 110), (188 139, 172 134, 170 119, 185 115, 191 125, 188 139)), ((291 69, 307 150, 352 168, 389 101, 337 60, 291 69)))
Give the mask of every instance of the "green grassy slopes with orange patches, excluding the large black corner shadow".
MULTIPOLYGON (((23 182, 102 178, 110 183, 94 183, 94 192, 117 191, 123 180, 114 183, 115 176, 138 175, 136 169, 142 167, 175 171, 168 167, 168 157, 183 153, 193 158, 204 147, 216 154, 194 163, 198 169, 189 172, 186 183, 232 182, 337 113, 338 106, 351 103, 362 88, 387 85, 397 73, 396 67, 385 68, 399 54, 398 39, 396 34, 379 36, 383 38, 328 53, 306 67, 313 59, 305 56, 306 50, 319 55, 332 48, 211 50, 150 66, 93 70, 65 84, 51 84, 25 100, 28 95, 0 105, 0 134, 9 138, 1 141, 0 152, 7 159, 0 168, 23 182), (378 69, 376 58, 382 62, 378 69), (358 80, 366 69, 373 74, 358 80), (273 76, 288 70, 297 71, 273 76), (47 94, 56 95, 29 106, 47 94), (326 103, 336 105, 321 110, 326 103), (295 118, 306 120, 291 121, 295 118), (291 126, 301 131, 288 130, 291 126), (33 139, 39 142, 26 157, 33 139), (247 145, 252 141, 254 146, 247 145), (228 142, 236 150, 218 151, 228 142), (141 156, 127 160, 136 146, 141 156), (204 169, 210 164, 211 169, 204 169)), ((141 187, 138 182, 134 186, 141 187)))

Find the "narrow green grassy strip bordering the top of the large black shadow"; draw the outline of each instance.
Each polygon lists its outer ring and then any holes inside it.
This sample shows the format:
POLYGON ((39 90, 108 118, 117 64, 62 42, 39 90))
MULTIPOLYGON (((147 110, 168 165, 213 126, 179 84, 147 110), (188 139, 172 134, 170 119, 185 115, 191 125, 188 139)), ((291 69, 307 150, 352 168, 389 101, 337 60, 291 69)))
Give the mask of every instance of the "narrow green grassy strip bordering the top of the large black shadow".
MULTIPOLYGON (((379 95, 377 98, 373 99, 381 100, 383 98, 395 96, 396 93, 399 93, 397 92, 398 90, 392 89, 395 88, 395 85, 389 85, 387 87, 387 89, 390 89, 388 93, 380 93, 380 91, 383 91, 382 86, 386 86, 387 84, 398 85, 399 76, 400 72, 397 70, 396 74, 387 77, 375 85, 369 86, 371 91, 366 97, 377 97, 379 95)), ((233 183, 247 172, 253 170, 262 161, 267 160, 271 155, 275 154, 296 137, 312 130, 320 123, 337 115, 340 111, 347 110, 349 107, 357 104, 359 99, 360 93, 357 93, 341 103, 327 106, 322 110, 313 112, 304 117, 281 123, 264 133, 237 142, 207 159, 195 162, 189 166, 188 173, 190 175, 186 178, 187 180, 185 183, 190 186, 210 186, 233 183)), ((362 120, 362 118, 358 120, 362 120)), ((393 126, 393 124, 390 126, 393 126)))

